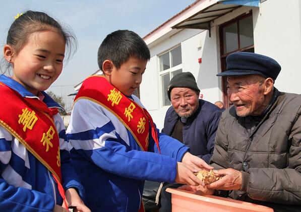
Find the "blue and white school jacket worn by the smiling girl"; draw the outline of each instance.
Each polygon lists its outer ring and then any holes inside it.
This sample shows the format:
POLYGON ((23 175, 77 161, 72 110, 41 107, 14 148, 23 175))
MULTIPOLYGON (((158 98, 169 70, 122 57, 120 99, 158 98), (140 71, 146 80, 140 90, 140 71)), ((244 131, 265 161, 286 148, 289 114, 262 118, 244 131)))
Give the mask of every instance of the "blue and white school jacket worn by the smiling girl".
MULTIPOLYGON (((0 82, 24 98, 38 98, 21 84, 4 75, 0 76, 0 82)), ((43 102, 49 108, 62 108, 45 92, 42 94, 43 102)), ((62 185, 65 190, 76 188, 83 197, 83 187, 70 164, 63 119, 57 113, 53 116, 53 121, 59 134, 62 185)), ((47 168, 27 151, 17 138, 0 126, 0 211, 53 211, 55 204, 62 203, 57 185, 47 168)))

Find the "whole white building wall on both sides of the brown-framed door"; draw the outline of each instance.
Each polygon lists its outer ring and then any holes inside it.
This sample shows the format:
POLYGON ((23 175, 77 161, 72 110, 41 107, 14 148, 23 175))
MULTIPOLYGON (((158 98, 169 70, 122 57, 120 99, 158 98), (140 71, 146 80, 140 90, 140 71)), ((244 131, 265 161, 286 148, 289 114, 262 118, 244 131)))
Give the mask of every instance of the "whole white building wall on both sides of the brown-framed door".
POLYGON ((275 86, 280 91, 301 93, 301 1, 267 0, 260 8, 242 7, 214 20, 211 37, 208 30, 184 29, 160 43, 150 45, 151 59, 140 85, 142 103, 150 111, 157 127, 163 127, 168 106, 161 106, 158 55, 181 43, 184 72, 192 72, 203 99, 222 100, 219 25, 239 15, 253 13, 255 52, 276 59, 282 66, 275 86), (198 48, 199 43, 202 47, 198 48), (202 63, 198 63, 202 58, 202 63))

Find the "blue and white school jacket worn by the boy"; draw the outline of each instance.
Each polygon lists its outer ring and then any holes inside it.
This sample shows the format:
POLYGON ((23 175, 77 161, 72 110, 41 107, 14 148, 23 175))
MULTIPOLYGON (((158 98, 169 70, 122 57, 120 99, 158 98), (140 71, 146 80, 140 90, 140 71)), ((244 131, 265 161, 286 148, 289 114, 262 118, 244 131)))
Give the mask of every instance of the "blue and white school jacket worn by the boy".
MULTIPOLYGON (((136 96, 131 98, 142 106, 136 96)), ((93 212, 138 211, 144 180, 174 182, 176 162, 188 148, 157 132, 161 155, 151 136, 148 152, 142 152, 131 132, 103 106, 87 99, 74 104, 67 129, 71 160, 93 212)))

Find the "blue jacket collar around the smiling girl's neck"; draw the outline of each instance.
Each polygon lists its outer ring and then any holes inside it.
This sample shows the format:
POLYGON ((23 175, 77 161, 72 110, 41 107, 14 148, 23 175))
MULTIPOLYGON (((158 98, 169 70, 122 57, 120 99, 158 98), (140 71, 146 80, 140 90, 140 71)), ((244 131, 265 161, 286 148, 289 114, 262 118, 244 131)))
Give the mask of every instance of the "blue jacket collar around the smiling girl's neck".
MULTIPOLYGON (((20 83, 13 80, 12 78, 9 78, 5 75, 0 75, 0 82, 4 83, 9 88, 16 91, 24 98, 39 99, 36 95, 29 92, 26 88, 24 88, 24 86, 22 86, 20 83)), ((44 95, 43 102, 48 106, 48 108, 57 108, 60 110, 64 110, 64 108, 57 102, 55 102, 48 94, 46 94, 46 92, 42 91, 41 93, 44 95)))

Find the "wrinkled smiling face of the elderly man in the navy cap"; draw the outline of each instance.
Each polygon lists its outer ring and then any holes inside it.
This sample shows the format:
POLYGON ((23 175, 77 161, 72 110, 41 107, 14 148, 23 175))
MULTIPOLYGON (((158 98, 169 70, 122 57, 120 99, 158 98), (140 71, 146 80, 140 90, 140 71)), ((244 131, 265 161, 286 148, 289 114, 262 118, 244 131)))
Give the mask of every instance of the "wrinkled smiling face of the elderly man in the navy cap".
POLYGON ((265 79, 258 75, 227 78, 227 95, 238 116, 260 115, 265 102, 265 79))

